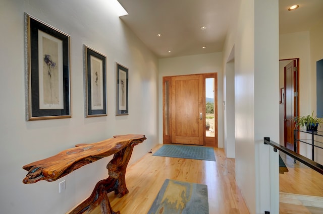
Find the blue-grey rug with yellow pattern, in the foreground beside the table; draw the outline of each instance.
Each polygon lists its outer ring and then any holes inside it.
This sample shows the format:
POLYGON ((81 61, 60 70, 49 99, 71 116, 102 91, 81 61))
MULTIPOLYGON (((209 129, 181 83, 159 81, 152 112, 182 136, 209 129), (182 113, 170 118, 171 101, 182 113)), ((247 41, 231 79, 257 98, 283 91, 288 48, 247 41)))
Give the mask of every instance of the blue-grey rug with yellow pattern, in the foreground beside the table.
POLYGON ((208 214, 207 186, 166 179, 147 214, 208 214))

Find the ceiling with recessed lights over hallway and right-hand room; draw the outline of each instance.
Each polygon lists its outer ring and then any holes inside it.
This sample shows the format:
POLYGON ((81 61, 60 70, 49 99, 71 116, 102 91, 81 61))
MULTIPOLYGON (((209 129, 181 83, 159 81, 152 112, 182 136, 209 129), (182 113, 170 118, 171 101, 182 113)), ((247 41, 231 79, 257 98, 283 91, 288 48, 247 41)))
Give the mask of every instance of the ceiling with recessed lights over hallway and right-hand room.
MULTIPOLYGON (((129 14, 121 19, 158 58, 221 52, 240 4, 239 0, 118 1, 129 14)), ((279 0, 279 22, 280 33, 306 31, 323 22, 323 0, 279 0), (293 4, 299 9, 288 11, 293 4)))

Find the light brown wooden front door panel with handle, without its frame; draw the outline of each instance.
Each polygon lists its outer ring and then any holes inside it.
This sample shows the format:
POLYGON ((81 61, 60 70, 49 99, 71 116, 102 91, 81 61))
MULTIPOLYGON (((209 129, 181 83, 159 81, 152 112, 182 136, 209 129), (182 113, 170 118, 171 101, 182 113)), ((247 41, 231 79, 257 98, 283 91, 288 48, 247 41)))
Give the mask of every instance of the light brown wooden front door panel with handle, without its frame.
POLYGON ((172 77, 172 143, 203 145, 203 76, 172 77))

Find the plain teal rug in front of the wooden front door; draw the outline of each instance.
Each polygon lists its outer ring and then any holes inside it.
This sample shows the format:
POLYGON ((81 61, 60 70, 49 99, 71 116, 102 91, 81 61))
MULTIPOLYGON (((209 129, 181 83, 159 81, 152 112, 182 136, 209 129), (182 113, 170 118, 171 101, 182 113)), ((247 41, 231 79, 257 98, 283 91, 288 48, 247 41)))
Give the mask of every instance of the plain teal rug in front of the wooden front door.
POLYGON ((213 148, 202 146, 164 145, 153 156, 216 161, 213 148))

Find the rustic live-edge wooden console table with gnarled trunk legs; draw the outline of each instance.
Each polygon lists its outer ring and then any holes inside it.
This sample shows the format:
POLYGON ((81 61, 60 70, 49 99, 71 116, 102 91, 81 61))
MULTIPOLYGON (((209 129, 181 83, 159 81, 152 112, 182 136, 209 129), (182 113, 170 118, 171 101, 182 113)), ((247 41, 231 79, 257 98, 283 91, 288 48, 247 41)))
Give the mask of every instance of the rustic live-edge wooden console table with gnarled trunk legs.
POLYGON ((89 213, 100 205, 102 214, 120 214, 120 211, 113 211, 107 193, 115 191, 115 194, 122 197, 129 192, 125 180, 126 168, 133 147, 145 139, 145 135, 142 134, 126 134, 92 144, 76 145, 75 148, 64 150, 55 156, 23 166, 23 169, 28 171, 23 183, 56 181, 86 164, 114 155, 106 166, 109 177, 100 180, 92 194, 68 213, 81 214, 85 211, 89 213))

